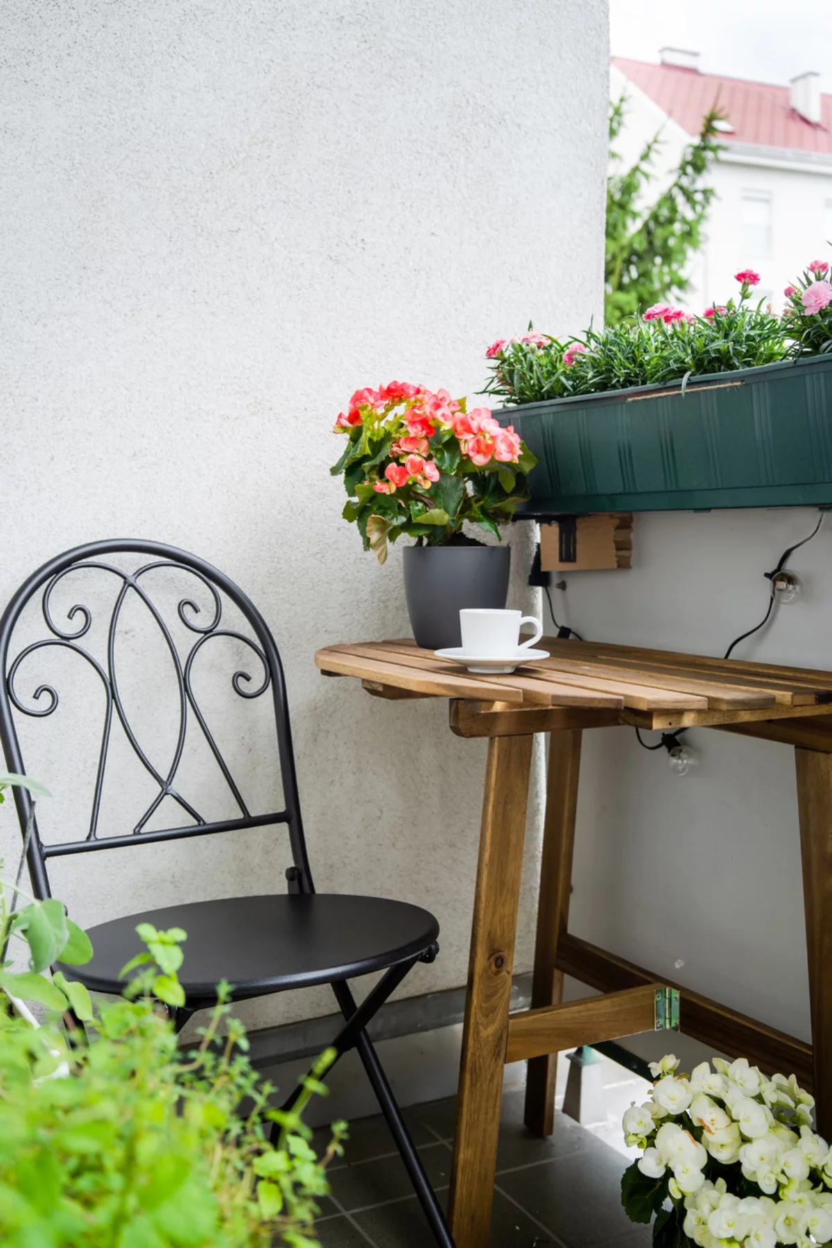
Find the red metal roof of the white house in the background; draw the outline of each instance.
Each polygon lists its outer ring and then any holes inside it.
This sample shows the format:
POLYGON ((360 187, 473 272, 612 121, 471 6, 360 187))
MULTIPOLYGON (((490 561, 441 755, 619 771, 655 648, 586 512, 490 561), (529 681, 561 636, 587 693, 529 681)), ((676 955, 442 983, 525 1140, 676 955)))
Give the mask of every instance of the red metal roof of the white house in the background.
POLYGON ((612 64, 689 135, 699 134, 702 117, 716 104, 733 126, 733 134, 721 134, 720 142, 832 154, 832 95, 821 96, 822 121, 813 126, 792 109, 787 86, 621 56, 614 56, 612 64))

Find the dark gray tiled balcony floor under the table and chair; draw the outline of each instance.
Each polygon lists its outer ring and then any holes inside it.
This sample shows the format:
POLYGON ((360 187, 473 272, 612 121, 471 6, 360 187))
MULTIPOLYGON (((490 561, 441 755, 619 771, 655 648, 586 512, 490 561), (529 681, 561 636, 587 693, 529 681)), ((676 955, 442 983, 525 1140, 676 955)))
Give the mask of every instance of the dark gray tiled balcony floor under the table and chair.
MULTIPOLYGON (((616 1090, 614 1109, 639 1097, 616 1090)), ((602 1137, 558 1113, 555 1132, 536 1139, 523 1126, 521 1090, 504 1093, 494 1191, 491 1248, 649 1248, 650 1227, 634 1227, 620 1204, 622 1152, 602 1137)), ((619 1116, 620 1117, 620 1116, 619 1116)), ((405 1111, 443 1206, 448 1198, 454 1101, 434 1101, 405 1111)), ((324 1141, 322 1132, 321 1142, 324 1141)), ((404 1166, 380 1117, 351 1127, 346 1156, 329 1172, 332 1199, 317 1232, 323 1248, 430 1248, 434 1243, 412 1192, 404 1166)))

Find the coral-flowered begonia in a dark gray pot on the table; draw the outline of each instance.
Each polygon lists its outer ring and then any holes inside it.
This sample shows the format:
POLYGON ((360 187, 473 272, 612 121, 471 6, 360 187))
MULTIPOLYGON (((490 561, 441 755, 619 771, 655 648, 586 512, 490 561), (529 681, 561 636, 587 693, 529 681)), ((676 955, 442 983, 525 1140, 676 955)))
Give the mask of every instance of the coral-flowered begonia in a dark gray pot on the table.
POLYGON ((432 650, 459 645, 462 608, 505 607, 510 558, 463 525, 500 539, 500 525, 529 497, 535 456, 488 408, 469 412, 448 391, 405 382, 357 391, 334 432, 347 439, 331 469, 344 478, 344 519, 379 563, 388 543, 417 539, 404 552, 413 635, 432 650))

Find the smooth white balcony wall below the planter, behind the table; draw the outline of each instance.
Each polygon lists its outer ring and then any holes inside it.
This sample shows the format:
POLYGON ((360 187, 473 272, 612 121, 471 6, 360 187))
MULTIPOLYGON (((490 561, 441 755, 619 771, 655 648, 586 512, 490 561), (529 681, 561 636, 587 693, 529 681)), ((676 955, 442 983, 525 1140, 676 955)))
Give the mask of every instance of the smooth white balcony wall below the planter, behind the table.
MULTIPOLYGON (((558 619, 591 640, 721 655, 762 619, 763 573, 816 523, 808 508, 641 513, 632 569, 568 575, 553 590, 558 619)), ((735 658, 832 668, 831 557, 827 519, 788 560, 803 597, 735 658)), ((584 735, 570 927, 807 1040, 793 750, 707 729, 685 741, 700 764, 676 776, 631 729, 584 735)), ((674 1045, 656 1036, 647 1048, 674 1045)))

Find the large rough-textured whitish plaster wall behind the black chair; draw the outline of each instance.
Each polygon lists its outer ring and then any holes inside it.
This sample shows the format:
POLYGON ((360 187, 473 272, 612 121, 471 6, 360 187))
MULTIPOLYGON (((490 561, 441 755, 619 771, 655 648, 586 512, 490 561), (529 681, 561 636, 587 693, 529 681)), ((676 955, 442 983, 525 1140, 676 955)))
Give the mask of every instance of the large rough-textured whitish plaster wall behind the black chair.
MULTIPOLYGON (((432 907, 442 956, 405 991, 460 983, 485 748, 450 735, 444 704, 388 705, 313 666, 327 641, 407 631, 400 552, 379 568, 342 523, 329 429, 358 384, 473 394, 491 338, 597 313, 606 5, 4 12, 0 595, 110 535, 223 568, 282 649, 318 887, 432 907)), ((70 805, 90 766, 71 709, 39 764, 70 805)), ((259 761, 252 746, 251 782, 259 761)), ((135 797, 110 795, 112 831, 135 797)), ((529 829, 533 867, 536 799, 529 829)), ((11 857, 7 806, 0 835, 11 857)), ((253 832, 97 855, 54 886, 90 924, 282 887, 287 861, 253 832)), ((528 871, 520 968, 531 897, 528 871)), ((301 993, 247 1017, 331 1008, 301 993)))

